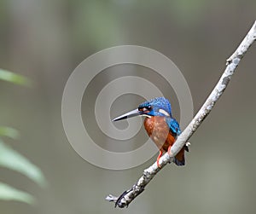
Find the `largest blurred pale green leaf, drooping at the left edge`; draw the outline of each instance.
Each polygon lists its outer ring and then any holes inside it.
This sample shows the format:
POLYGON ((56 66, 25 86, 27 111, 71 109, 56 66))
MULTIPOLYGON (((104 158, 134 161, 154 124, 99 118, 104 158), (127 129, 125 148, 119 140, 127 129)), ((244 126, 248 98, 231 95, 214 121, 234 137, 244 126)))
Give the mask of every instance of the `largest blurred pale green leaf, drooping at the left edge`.
POLYGON ((28 159, 17 153, 13 148, 4 144, 0 140, 0 166, 9 168, 13 171, 18 171, 21 174, 32 179, 33 182, 38 183, 41 187, 46 185, 46 180, 42 171, 33 165, 28 159))

